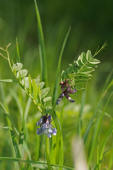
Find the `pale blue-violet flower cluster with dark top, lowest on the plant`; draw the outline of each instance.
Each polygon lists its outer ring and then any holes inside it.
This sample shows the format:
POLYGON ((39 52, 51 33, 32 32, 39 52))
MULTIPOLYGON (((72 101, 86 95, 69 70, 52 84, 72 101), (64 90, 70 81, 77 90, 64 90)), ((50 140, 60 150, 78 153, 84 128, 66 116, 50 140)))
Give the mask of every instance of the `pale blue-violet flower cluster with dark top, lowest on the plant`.
POLYGON ((57 130, 56 128, 53 128, 53 125, 51 124, 51 116, 46 114, 40 118, 40 120, 37 122, 37 126, 40 126, 40 128, 37 129, 37 134, 42 135, 45 134, 49 138, 52 137, 52 135, 56 135, 57 130))

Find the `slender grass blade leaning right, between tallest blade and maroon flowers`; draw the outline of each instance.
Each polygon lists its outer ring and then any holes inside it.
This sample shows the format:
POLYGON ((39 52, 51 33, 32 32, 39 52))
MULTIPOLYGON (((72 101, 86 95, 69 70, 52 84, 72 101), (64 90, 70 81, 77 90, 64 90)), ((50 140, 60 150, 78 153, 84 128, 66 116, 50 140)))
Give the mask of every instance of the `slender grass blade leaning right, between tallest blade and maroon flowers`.
POLYGON ((58 94, 58 86, 59 86, 59 81, 60 81, 60 69, 61 69, 62 55, 63 55, 63 52, 64 52, 64 48, 65 48, 67 39, 69 37, 70 30, 71 30, 71 27, 69 27, 69 29, 68 29, 68 31, 65 35, 65 38, 64 38, 61 50, 60 50, 59 61, 58 61, 57 72, 56 72, 56 81, 55 81, 55 85, 54 85, 53 98, 52 98, 53 107, 55 107, 55 105, 56 105, 56 99, 57 99, 57 94, 58 94))

